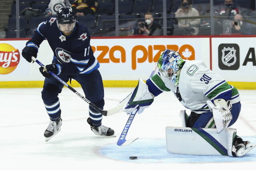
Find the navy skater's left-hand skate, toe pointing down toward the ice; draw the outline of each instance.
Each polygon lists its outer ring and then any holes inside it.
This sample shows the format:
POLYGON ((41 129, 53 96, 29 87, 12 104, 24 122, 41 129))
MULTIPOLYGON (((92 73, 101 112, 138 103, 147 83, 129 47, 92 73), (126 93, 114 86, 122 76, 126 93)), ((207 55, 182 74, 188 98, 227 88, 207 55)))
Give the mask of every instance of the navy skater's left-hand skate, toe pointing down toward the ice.
POLYGON ((60 131, 61 125, 62 125, 61 118, 59 118, 57 121, 50 121, 50 124, 44 131, 44 137, 46 142, 60 131))

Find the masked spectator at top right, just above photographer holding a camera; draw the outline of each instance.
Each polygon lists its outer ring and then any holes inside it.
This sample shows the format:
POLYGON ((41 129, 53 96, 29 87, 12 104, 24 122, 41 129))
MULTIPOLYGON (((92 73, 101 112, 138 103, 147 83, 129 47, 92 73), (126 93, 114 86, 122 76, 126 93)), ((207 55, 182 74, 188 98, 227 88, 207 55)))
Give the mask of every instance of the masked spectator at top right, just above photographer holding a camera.
POLYGON ((220 16, 226 16, 228 19, 232 20, 233 16, 239 14, 238 8, 234 4, 233 0, 224 0, 226 8, 220 11, 220 16))

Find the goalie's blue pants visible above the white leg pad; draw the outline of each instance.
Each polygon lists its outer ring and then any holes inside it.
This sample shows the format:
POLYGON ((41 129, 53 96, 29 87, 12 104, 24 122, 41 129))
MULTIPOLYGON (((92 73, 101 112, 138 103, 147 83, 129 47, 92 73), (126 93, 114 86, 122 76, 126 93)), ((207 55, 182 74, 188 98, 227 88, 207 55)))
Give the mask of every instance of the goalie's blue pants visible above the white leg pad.
MULTIPOLYGON (((241 111, 240 102, 232 104, 232 109, 230 111, 232 114, 232 120, 230 121, 230 124, 228 125, 228 127, 230 127, 236 122, 240 111, 241 111)), ((188 119, 186 120, 186 127, 205 128, 206 125, 209 125, 209 122, 211 121, 212 117, 213 117, 212 112, 206 112, 202 114, 191 112, 188 119)))

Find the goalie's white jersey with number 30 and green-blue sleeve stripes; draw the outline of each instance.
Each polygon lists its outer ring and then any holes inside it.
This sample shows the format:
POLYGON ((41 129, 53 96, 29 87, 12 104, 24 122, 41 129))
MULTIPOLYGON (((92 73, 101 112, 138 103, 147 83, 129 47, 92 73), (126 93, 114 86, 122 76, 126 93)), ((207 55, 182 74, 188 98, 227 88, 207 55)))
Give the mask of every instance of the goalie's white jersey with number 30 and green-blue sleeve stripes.
POLYGON ((232 104, 240 101, 238 90, 208 69, 202 61, 184 61, 177 85, 159 72, 146 81, 154 96, 172 91, 184 107, 198 114, 210 111, 206 104, 208 100, 225 99, 232 104))

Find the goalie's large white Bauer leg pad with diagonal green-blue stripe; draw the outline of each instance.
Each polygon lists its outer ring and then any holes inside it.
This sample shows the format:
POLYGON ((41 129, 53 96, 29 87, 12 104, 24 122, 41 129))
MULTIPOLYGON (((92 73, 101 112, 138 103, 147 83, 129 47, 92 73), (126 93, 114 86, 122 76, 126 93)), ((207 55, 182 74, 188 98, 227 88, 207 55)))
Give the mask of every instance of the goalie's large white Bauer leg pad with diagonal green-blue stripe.
POLYGON ((166 149, 173 154, 232 156, 236 129, 166 127, 166 149))

